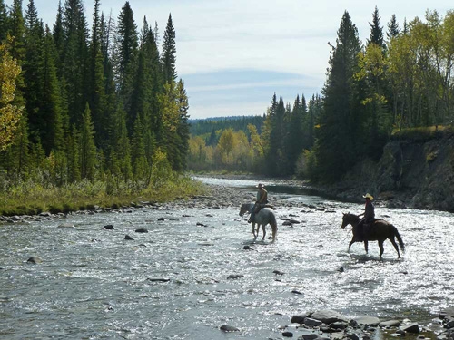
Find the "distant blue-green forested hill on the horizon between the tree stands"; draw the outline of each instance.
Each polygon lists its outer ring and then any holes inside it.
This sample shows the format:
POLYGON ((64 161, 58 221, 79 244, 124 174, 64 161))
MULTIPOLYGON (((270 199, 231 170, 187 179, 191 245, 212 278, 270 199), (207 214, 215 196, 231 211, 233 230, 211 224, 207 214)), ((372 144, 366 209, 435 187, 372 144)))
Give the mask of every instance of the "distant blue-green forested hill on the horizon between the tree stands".
POLYGON ((226 130, 232 128, 233 131, 248 132, 248 124, 255 125, 257 131, 262 133, 262 125, 266 116, 231 116, 206 118, 200 120, 189 120, 190 133, 192 136, 201 136, 212 133, 212 131, 226 130))

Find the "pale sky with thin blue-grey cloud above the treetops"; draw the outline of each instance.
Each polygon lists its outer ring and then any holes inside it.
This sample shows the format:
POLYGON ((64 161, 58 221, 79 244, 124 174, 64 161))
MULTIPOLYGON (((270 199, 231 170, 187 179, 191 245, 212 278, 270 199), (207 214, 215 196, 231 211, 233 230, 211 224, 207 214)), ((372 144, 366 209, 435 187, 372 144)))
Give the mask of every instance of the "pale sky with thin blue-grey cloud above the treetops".
MULTIPOLYGON (((64 4, 64 0, 61 0, 64 4)), ((11 1, 12 2, 12 1, 11 1)), ((8 4, 8 1, 5 1, 8 4)), ((93 16, 94 1, 84 1, 93 16)), ((426 11, 444 16, 448 0, 130 0, 138 27, 143 17, 158 24, 161 38, 172 14, 176 69, 189 96, 192 119, 260 115, 274 93, 293 104, 309 100, 326 80, 330 46, 348 11, 360 40, 370 36, 375 6, 386 34, 391 15, 398 24, 426 11)), ((26 8, 28 0, 24 0, 26 8)), ((125 0, 101 0, 104 16, 118 17, 125 0)), ((54 24, 58 0, 35 0, 44 24, 54 24)))

